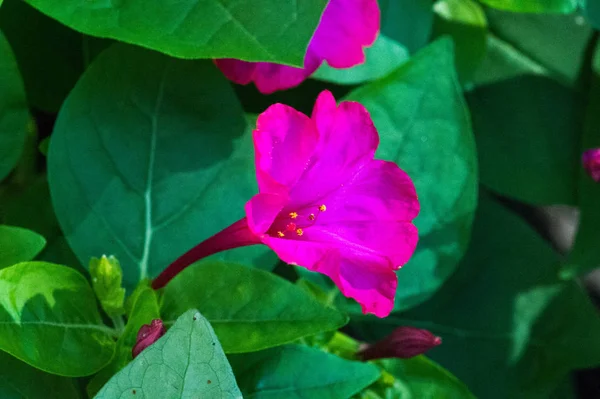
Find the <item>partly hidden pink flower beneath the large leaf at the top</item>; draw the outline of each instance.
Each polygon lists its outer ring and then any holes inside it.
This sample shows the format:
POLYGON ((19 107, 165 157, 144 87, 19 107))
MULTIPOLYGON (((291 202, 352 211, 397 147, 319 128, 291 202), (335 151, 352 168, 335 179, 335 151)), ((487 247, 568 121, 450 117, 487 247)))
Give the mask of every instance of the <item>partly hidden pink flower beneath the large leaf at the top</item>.
POLYGON ((350 68, 365 61, 363 47, 368 47, 379 32, 377 0, 330 0, 313 35, 304 68, 269 62, 246 62, 220 59, 215 63, 235 83, 254 82, 261 93, 298 86, 323 63, 334 68, 350 68))

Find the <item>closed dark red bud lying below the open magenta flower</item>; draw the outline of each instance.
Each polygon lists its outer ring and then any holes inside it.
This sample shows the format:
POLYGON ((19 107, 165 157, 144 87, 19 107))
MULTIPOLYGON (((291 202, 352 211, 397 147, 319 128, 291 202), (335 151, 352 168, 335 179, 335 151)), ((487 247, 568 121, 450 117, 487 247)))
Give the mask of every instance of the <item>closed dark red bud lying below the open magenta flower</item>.
POLYGON ((415 327, 400 327, 381 341, 374 344, 364 344, 359 350, 358 356, 362 360, 394 357, 408 359, 421 355, 441 343, 442 339, 440 337, 436 337, 427 330, 415 327))

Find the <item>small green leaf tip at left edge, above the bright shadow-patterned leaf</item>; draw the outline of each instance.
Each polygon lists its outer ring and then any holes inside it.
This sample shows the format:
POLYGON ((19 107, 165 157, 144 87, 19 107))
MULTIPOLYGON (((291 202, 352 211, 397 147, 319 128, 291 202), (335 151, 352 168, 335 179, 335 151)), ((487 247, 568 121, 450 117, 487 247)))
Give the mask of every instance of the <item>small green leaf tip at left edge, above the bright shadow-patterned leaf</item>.
POLYGON ((0 225, 0 269, 35 258, 45 245, 44 237, 31 230, 0 225))

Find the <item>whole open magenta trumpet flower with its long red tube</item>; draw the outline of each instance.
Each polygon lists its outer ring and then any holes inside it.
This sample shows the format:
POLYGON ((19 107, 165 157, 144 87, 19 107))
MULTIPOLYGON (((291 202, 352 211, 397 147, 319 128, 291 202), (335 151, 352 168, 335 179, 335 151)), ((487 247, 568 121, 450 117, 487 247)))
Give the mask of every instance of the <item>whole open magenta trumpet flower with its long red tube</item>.
POLYGON ((387 316, 396 273, 417 244, 415 187, 396 164, 375 160, 379 135, 356 102, 319 95, 312 117, 283 104, 262 113, 253 132, 259 193, 246 217, 171 264, 163 287, 213 253, 265 244, 290 264, 329 276, 363 312, 387 316))

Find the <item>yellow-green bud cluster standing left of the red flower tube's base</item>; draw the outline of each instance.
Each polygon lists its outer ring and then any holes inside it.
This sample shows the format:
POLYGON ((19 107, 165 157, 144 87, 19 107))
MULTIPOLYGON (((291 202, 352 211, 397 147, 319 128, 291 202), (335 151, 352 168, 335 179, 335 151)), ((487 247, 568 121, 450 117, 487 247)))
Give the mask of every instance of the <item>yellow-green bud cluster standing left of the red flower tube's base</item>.
POLYGON ((114 257, 92 258, 90 261, 90 274, 92 286, 100 300, 102 309, 110 317, 118 317, 125 313, 125 289, 121 286, 123 271, 119 261, 114 257))

